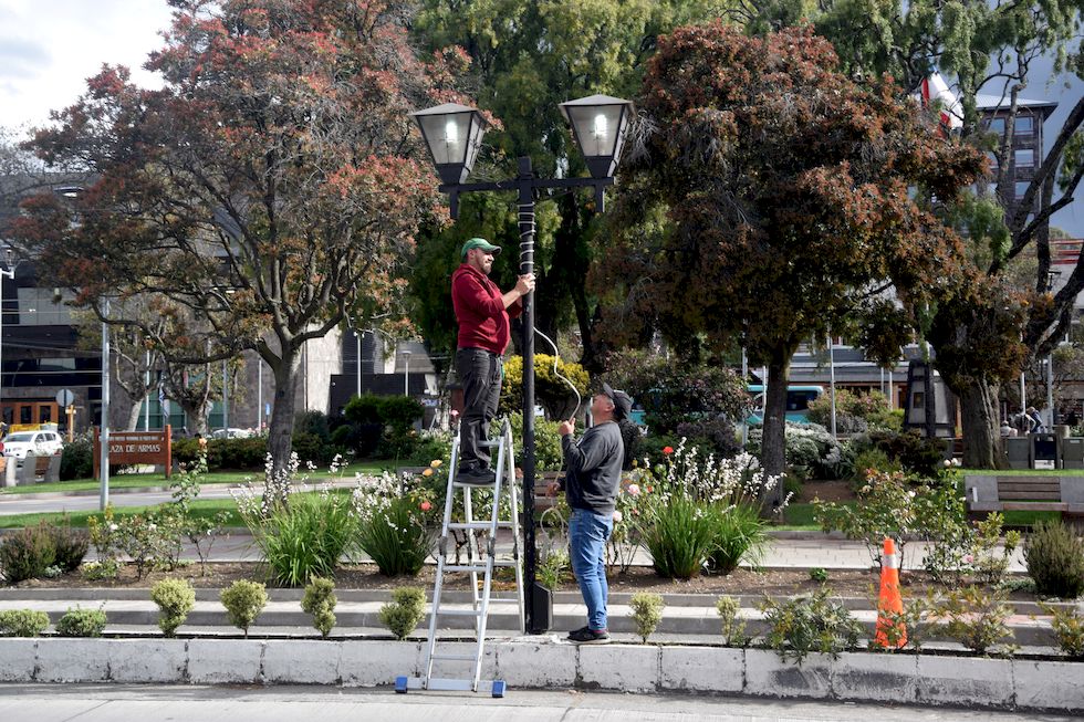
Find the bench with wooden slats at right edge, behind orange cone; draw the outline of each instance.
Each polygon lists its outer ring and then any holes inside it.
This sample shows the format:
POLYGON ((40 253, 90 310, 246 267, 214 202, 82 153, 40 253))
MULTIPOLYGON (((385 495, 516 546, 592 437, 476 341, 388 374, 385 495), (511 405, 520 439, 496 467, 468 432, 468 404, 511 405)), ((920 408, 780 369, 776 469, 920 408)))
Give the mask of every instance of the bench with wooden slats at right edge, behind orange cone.
POLYGON ((968 511, 1061 512, 1064 519, 1084 519, 1084 477, 1012 477, 968 474, 963 479, 968 511))

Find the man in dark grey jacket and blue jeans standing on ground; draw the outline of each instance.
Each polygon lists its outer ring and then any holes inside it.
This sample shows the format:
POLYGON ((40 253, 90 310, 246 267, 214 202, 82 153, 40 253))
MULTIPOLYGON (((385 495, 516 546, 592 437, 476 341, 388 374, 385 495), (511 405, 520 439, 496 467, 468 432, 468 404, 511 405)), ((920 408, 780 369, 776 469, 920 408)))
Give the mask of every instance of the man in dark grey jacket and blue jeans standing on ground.
MULTIPOLYGON (((617 421, 628 417, 633 400, 607 384, 591 400, 595 426, 579 442, 573 441, 575 421, 564 421, 557 432, 564 451, 564 490, 572 515, 569 519, 569 550, 572 571, 587 605, 587 626, 569 634, 580 645, 609 641, 606 619, 606 541, 614 531, 614 508, 621 484, 625 443, 617 421)), ((556 484, 551 488, 555 493, 556 484)))

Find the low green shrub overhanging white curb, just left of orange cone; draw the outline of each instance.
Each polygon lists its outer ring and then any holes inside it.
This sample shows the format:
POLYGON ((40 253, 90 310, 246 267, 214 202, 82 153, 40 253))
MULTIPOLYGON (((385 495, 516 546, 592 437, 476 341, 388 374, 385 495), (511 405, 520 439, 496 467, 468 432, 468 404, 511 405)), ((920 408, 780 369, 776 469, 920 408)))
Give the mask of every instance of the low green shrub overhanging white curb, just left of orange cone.
POLYGON ((810 652, 838 657, 858 645, 862 626, 842 604, 828 601, 827 590, 809 597, 760 605, 768 624, 765 642, 783 659, 793 657, 801 665, 810 652))

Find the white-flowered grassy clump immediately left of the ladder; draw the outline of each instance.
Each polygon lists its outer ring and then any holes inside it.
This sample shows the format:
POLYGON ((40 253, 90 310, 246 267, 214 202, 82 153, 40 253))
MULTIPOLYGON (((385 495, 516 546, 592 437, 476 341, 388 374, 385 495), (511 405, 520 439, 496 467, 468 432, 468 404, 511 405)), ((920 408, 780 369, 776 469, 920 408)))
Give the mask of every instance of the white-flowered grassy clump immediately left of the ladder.
MULTIPOLYGON (((432 551, 425 512, 431 506, 420 483, 385 472, 357 478, 354 510, 357 545, 386 576, 415 576, 432 551)), ((481 516, 481 512, 479 517, 481 516)))

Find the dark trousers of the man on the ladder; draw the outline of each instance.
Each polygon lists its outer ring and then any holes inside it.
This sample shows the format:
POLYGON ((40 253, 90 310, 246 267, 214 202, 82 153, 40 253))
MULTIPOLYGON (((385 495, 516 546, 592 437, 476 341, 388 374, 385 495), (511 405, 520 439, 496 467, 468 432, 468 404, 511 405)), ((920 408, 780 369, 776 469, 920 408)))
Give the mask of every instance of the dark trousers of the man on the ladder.
POLYGON ((459 468, 489 468, 489 449, 479 441, 489 437, 501 397, 500 356, 482 348, 456 352, 456 370, 463 385, 463 415, 459 419, 459 468))

